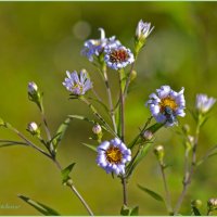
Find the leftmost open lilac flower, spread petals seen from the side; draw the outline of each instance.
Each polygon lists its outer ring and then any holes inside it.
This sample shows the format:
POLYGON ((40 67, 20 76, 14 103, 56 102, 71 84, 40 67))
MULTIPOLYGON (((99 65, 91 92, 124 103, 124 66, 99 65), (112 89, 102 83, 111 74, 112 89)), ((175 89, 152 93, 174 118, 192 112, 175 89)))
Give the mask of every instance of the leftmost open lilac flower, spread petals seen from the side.
POLYGON ((66 75, 67 77, 63 85, 74 95, 82 95, 92 88, 92 82, 90 81, 87 71, 82 69, 79 75, 76 71, 72 74, 66 71, 66 75))

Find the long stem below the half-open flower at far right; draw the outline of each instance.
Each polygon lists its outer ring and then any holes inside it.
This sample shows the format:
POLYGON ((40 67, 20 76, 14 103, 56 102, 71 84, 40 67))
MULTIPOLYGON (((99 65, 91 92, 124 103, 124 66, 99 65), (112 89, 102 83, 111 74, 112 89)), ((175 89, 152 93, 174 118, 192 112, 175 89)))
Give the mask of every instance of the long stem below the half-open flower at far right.
POLYGON ((200 133, 200 123, 197 123, 196 125, 196 131, 195 131, 195 137, 194 137, 194 144, 193 144, 193 153, 192 153, 192 162, 191 162, 191 166, 188 170, 186 170, 186 174, 184 174, 184 178, 183 178, 183 188, 182 188, 182 191, 181 191, 181 194, 178 199, 178 202, 177 202, 177 205, 174 209, 174 215, 177 215, 180 207, 181 207, 181 204, 183 202, 183 199, 187 194, 187 190, 188 190, 188 187, 189 184, 191 183, 191 180, 192 180, 192 176, 194 174, 194 170, 195 170, 195 165, 196 165, 196 149, 197 149, 197 143, 199 143, 199 133, 200 133))

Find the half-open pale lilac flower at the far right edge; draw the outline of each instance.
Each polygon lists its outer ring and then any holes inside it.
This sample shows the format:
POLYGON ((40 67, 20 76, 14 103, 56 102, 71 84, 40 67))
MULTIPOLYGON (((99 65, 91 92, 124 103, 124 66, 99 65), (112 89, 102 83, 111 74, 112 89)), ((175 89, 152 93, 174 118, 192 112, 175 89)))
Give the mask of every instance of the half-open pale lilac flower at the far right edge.
POLYGON ((196 95, 196 110, 202 114, 207 113, 215 103, 216 99, 208 98, 206 94, 196 95))

